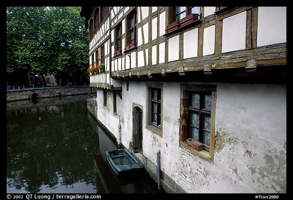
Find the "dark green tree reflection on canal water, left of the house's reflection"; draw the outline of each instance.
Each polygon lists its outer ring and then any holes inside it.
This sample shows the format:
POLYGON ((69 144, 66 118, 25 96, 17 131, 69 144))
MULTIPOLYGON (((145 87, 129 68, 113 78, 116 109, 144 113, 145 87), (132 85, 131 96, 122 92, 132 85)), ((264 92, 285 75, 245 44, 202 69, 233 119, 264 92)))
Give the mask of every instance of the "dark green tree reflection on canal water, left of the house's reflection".
POLYGON ((80 182, 94 185, 97 152, 86 101, 7 114, 7 188, 37 193, 80 182))

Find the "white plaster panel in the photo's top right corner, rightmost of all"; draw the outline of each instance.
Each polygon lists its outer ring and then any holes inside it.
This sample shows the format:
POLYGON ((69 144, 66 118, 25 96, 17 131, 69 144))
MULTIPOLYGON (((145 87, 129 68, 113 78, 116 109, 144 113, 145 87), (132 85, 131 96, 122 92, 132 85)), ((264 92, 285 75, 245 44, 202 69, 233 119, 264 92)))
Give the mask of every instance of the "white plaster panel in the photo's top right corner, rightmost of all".
POLYGON ((258 7, 257 47, 287 41, 286 9, 286 7, 258 7))

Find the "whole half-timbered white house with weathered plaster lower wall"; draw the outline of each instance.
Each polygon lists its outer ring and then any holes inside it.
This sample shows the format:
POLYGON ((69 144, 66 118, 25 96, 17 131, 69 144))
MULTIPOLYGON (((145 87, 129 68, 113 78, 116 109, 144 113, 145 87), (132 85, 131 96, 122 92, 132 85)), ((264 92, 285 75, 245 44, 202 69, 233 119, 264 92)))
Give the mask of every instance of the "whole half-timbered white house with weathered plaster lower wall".
POLYGON ((286 7, 80 15, 98 120, 164 188, 286 193, 286 7))

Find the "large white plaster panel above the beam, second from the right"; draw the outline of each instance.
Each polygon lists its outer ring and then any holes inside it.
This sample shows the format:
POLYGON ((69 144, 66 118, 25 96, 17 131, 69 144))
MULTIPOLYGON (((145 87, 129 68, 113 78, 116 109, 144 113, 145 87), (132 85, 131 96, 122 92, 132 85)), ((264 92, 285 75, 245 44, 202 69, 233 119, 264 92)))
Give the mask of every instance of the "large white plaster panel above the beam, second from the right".
POLYGON ((246 12, 223 19, 222 52, 245 49, 246 12))

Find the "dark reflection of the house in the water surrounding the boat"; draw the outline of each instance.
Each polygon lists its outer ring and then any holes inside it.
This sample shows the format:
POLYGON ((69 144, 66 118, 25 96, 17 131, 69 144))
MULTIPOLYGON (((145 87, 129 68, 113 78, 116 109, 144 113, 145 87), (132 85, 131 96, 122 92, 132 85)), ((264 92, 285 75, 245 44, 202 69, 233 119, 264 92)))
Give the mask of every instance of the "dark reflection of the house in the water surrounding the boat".
MULTIPOLYGON (((89 102, 88 102, 89 103, 89 102)), ((88 104, 89 106, 89 104, 88 104)), ((94 156, 97 193, 158 193, 156 183, 143 170, 135 177, 120 178, 112 172, 106 160, 106 150, 116 149, 117 142, 88 112, 87 115, 99 136, 99 154, 94 156)))

